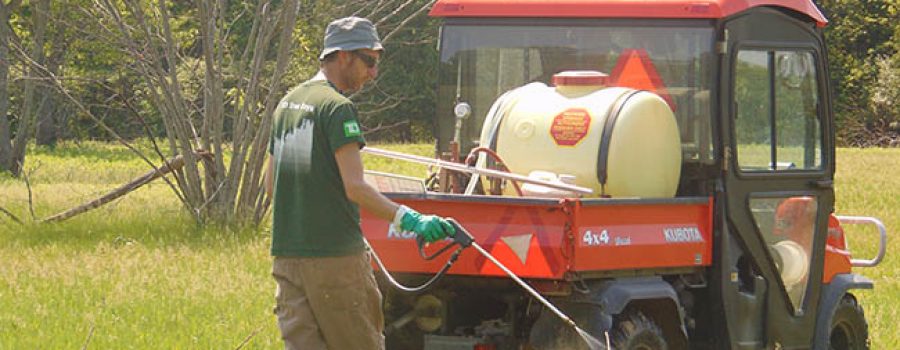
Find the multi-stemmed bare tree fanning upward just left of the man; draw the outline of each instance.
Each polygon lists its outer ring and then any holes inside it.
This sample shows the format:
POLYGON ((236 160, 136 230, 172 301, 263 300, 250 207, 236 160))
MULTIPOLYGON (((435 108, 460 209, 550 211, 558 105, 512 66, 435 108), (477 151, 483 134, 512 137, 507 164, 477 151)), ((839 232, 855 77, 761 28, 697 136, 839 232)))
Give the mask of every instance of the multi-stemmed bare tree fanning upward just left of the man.
POLYGON ((268 130, 300 3, 127 0, 100 1, 86 10, 104 23, 103 39, 133 59, 130 68, 159 109, 168 149, 158 148, 157 156, 184 157, 174 178, 185 206, 201 221, 260 218, 268 130), (231 36, 231 25, 246 20, 246 39, 231 36), (213 157, 198 164, 203 151, 213 157))

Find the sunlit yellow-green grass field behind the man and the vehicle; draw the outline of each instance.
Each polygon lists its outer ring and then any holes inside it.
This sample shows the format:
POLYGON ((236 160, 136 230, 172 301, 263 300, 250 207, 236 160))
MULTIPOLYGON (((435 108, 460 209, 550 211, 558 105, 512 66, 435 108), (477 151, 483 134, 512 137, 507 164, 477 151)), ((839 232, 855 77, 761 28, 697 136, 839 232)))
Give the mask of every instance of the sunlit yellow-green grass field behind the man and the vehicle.
MULTIPOLYGON (((381 145, 431 155, 430 145, 381 145)), ((837 212, 900 228, 900 149, 841 149, 837 212)), ((66 144, 29 153, 35 216, 52 215, 147 171, 127 150, 66 144)), ((424 167, 366 159, 367 168, 422 176, 424 167)), ((0 207, 29 220, 28 190, 0 176, 0 207)), ((153 183, 59 224, 19 226, 0 214, 0 349, 251 349, 281 347, 271 313, 267 228, 200 228, 168 187, 153 183)), ((860 257, 872 230, 852 229, 860 257)), ((900 348, 897 240, 861 292, 873 349, 900 348)))

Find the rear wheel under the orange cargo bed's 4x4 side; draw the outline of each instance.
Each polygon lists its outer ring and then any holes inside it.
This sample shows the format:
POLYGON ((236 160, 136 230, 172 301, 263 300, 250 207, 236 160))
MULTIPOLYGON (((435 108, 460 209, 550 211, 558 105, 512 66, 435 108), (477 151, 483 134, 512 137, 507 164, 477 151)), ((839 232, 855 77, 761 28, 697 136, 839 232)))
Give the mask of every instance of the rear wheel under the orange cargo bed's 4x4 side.
POLYGON ((610 334, 616 350, 666 350, 662 328, 640 312, 621 316, 610 334))

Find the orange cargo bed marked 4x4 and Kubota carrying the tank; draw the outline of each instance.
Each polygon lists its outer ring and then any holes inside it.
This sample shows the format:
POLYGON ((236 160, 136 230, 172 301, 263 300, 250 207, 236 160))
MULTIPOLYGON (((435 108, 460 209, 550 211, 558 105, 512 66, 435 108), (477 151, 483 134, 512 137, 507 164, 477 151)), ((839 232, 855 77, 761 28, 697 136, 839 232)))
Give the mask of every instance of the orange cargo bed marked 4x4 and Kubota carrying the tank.
MULTIPOLYGON (((565 279, 642 269, 709 266, 712 199, 543 199, 453 194, 388 194, 422 213, 452 217, 523 278, 565 279)), ((434 274, 446 259, 423 260, 415 237, 362 213, 366 238, 394 273, 434 274)), ((434 251, 444 243, 427 248, 434 251)), ((474 251, 450 275, 501 276, 474 251)))

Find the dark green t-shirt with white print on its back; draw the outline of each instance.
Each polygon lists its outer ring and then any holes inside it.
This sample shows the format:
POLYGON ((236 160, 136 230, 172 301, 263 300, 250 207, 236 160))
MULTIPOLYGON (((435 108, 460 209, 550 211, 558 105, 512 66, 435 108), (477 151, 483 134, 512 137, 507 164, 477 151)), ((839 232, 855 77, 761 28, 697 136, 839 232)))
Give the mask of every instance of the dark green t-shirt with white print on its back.
POLYGON ((347 198, 334 152, 365 145, 353 102, 326 80, 278 104, 269 142, 275 162, 272 255, 344 256, 364 250, 359 207, 347 198))

